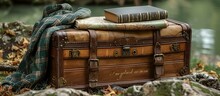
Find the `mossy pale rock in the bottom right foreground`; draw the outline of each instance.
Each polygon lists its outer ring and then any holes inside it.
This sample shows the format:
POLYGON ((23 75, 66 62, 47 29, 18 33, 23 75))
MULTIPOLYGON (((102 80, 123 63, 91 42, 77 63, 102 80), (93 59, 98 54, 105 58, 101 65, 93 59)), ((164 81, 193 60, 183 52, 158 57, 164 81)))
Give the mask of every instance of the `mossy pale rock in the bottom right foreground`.
POLYGON ((193 81, 168 79, 129 87, 126 96, 220 96, 220 91, 193 81))

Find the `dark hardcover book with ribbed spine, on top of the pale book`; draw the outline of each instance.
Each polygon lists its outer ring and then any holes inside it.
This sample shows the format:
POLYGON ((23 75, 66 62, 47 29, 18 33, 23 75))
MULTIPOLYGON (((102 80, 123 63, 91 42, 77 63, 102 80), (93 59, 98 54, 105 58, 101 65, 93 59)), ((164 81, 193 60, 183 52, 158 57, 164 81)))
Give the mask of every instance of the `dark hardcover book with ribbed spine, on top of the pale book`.
POLYGON ((106 20, 115 23, 140 22, 168 18, 164 9, 147 6, 119 7, 104 9, 106 20))

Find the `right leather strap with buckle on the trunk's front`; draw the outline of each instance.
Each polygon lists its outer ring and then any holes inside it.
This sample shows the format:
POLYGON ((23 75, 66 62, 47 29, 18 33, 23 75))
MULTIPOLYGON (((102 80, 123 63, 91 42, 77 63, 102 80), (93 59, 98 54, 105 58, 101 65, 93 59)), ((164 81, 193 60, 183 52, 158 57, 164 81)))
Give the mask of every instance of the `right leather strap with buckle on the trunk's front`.
POLYGON ((160 78, 164 74, 164 55, 161 53, 160 31, 153 32, 154 43, 154 79, 160 78))

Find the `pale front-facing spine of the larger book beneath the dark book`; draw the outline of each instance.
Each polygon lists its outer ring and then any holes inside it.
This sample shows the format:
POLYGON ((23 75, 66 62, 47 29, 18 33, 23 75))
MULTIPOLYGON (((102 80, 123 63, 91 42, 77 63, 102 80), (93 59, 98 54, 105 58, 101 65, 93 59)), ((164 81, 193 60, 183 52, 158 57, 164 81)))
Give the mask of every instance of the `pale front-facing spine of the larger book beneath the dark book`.
POLYGON ((166 20, 155 20, 142 23, 85 23, 76 22, 76 29, 94 29, 94 30, 156 30, 166 28, 166 20))

